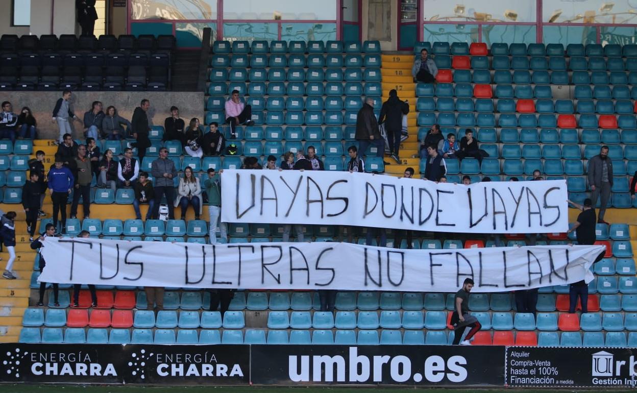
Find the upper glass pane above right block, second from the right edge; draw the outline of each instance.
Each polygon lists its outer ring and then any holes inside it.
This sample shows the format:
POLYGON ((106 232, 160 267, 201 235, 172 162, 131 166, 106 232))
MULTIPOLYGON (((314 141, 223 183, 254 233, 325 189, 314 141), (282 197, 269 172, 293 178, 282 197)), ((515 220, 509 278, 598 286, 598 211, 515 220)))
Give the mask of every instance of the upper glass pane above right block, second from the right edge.
POLYGON ((536 22, 536 0, 423 0, 431 22, 536 22))

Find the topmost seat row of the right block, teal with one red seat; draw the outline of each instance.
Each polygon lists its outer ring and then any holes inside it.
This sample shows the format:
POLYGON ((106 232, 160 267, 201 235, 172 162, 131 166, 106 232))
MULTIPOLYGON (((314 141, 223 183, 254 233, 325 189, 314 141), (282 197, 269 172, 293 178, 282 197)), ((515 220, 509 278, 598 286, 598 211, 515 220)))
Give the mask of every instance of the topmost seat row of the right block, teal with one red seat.
POLYGON ((637 45, 619 44, 568 44, 566 51, 562 44, 543 43, 492 43, 490 51, 485 43, 464 42, 448 43, 445 41, 434 42, 421 41, 414 45, 413 53, 420 54, 420 50, 427 49, 434 55, 492 55, 492 56, 548 56, 548 57, 637 57, 637 45))

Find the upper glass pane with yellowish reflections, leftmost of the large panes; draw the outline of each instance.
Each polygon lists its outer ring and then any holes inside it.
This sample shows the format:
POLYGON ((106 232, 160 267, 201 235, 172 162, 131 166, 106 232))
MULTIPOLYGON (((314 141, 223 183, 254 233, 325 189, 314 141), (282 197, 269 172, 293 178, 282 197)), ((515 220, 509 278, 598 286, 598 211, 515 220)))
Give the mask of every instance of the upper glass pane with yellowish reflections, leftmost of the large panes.
POLYGON ((217 19, 217 0, 132 0, 131 8, 133 20, 217 19))

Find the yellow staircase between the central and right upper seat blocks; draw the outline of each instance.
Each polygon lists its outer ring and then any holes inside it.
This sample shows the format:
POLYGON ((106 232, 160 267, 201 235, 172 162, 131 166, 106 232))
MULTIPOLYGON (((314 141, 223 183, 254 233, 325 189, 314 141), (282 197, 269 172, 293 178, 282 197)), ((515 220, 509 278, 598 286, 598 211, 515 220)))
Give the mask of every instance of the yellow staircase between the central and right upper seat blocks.
POLYGON ((420 159, 412 158, 418 154, 419 141, 415 132, 416 127, 416 84, 413 83, 412 65, 413 55, 408 52, 383 52, 382 68, 383 76, 383 103, 389 99, 389 90, 396 89, 398 97, 402 100, 409 100, 409 114, 407 115, 407 128, 412 130, 407 139, 401 143, 399 152, 401 164, 396 165, 392 159, 385 159, 389 166, 385 166, 385 173, 396 176, 403 176, 406 168, 412 167, 415 175, 420 173, 420 159))

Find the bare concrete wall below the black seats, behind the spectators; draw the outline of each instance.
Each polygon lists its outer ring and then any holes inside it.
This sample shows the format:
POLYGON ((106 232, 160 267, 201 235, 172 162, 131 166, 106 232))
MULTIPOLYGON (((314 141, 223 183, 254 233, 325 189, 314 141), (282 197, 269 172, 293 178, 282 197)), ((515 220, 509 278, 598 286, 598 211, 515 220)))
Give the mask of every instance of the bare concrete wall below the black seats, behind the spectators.
MULTIPOLYGON (((57 0, 56 0, 57 1, 57 0)), ((18 113, 23 106, 28 106, 38 121, 39 138, 57 139, 57 125, 51 121, 53 108, 61 92, 6 92, 3 101, 11 101, 13 111, 18 113)), ((150 124, 164 125, 164 118, 170 116, 170 107, 179 108, 180 116, 188 123, 190 118, 204 120, 203 92, 74 92, 71 105, 75 114, 82 120, 84 112, 90 110, 93 101, 101 101, 104 111, 110 105, 117 108, 120 116, 131 120, 132 111, 140 105, 142 99, 150 100, 148 118, 150 124)), ((83 123, 73 122, 75 138, 83 137, 83 123)))

